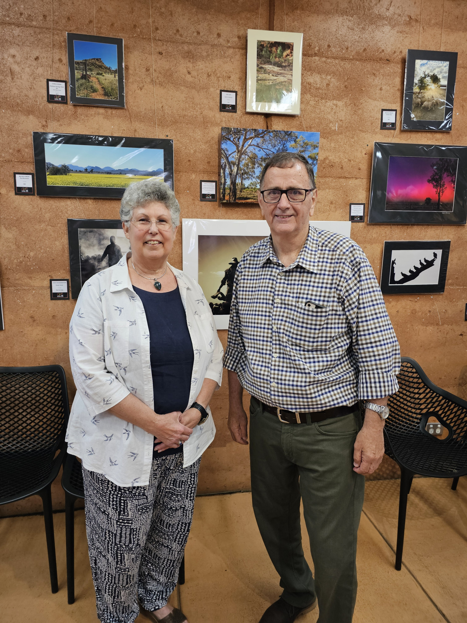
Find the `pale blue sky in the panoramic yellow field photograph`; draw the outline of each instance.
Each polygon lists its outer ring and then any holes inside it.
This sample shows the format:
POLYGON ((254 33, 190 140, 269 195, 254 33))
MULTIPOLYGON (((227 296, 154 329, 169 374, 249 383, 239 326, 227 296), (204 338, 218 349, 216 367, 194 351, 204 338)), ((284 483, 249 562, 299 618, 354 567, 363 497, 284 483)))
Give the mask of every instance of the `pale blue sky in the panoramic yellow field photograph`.
POLYGON ((102 145, 63 145, 45 143, 45 161, 75 166, 111 166, 113 169, 156 171, 164 168, 164 150, 141 147, 106 147, 102 145))

